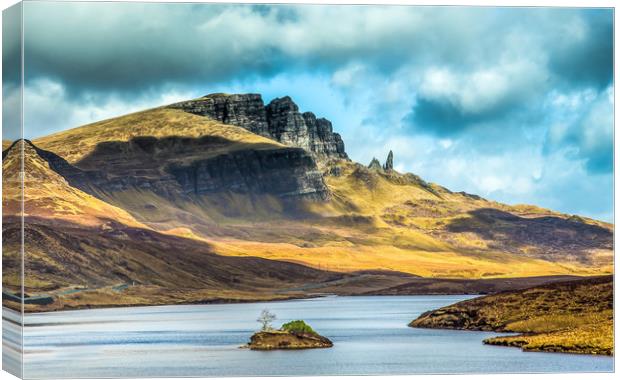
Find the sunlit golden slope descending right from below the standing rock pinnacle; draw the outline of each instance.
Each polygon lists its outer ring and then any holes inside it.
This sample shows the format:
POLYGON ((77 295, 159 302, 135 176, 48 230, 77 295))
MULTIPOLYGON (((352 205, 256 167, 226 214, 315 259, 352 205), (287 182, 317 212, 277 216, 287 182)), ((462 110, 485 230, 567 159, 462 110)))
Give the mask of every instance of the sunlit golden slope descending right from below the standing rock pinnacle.
MULTIPOLYGON (((272 234, 269 236, 261 236, 254 225, 248 231, 253 234, 251 239, 214 237, 218 252, 240 256, 259 254, 332 270, 383 269, 431 277, 592 275, 612 270, 610 248, 587 252, 575 249, 574 257, 570 257, 572 249, 508 241, 517 247, 513 249, 474 232, 448 230, 455 220, 464 223, 471 219, 472 224, 476 223, 469 213, 478 209, 503 210, 524 220, 547 216, 565 220, 568 215, 451 193, 413 177, 383 175, 353 163, 337 165, 340 175, 326 176, 332 201, 312 205, 312 210, 322 217, 289 221, 285 227, 266 223, 265 229, 272 234), (417 206, 417 210, 411 210, 414 208, 411 205, 417 206)), ((243 221, 229 222, 236 223, 240 230, 246 228, 243 221)), ((481 229, 495 228, 494 222, 482 225, 481 229)), ((509 228, 511 223, 497 222, 509 228)), ((592 223, 592 228, 602 225, 605 231, 611 229, 596 221, 585 221, 583 225, 590 226, 587 223, 592 223)), ((549 236, 553 232, 549 231, 549 236)), ((560 228, 557 232, 564 233, 560 228)), ((575 234, 576 230, 568 232, 575 234)))

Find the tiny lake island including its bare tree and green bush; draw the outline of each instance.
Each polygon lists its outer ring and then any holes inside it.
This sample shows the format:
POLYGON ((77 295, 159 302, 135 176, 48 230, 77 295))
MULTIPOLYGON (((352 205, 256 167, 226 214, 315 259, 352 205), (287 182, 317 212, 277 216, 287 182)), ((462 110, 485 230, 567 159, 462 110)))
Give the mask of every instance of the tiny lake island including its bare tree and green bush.
POLYGON ((251 350, 300 350, 308 348, 329 348, 334 344, 331 340, 319 335, 302 320, 291 321, 280 329, 271 327, 275 315, 263 310, 258 322, 262 328, 250 338, 247 348, 251 350))

